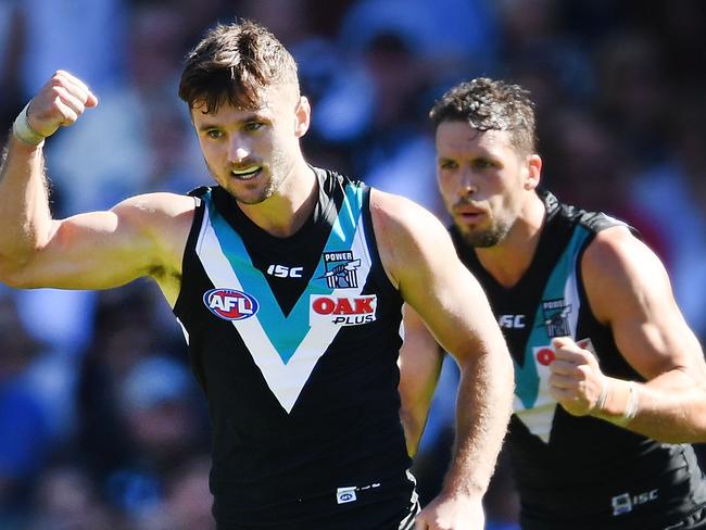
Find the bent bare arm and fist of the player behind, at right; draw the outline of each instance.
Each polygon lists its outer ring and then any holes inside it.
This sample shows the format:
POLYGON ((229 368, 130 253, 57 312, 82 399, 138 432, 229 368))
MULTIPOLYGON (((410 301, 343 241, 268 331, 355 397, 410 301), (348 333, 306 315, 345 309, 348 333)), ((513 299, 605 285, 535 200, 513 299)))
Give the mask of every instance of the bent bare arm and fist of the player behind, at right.
POLYGON ((596 235, 581 272, 594 315, 645 382, 604 376, 589 352, 559 339, 552 364, 559 402, 663 442, 706 441, 704 353, 661 261, 627 228, 614 227, 596 235))

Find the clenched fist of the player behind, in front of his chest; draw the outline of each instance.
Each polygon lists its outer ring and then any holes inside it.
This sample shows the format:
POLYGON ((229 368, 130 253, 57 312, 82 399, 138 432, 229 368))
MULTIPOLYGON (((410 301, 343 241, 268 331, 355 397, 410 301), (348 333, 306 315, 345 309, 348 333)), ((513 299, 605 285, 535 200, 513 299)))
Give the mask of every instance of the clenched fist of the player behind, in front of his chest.
POLYGON ((553 340, 554 361, 550 365, 550 392, 573 416, 600 412, 607 396, 608 379, 589 350, 568 337, 553 340))

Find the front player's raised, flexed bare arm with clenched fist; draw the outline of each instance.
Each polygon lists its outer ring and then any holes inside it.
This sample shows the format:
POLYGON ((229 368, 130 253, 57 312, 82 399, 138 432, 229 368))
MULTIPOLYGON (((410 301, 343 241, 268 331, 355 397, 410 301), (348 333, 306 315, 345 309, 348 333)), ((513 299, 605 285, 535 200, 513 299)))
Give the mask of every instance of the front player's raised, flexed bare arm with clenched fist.
POLYGON ((60 71, 17 118, 0 167, 0 281, 20 288, 104 289, 152 275, 173 301, 192 199, 155 193, 109 212, 51 217, 45 138, 97 103, 83 81, 60 71))

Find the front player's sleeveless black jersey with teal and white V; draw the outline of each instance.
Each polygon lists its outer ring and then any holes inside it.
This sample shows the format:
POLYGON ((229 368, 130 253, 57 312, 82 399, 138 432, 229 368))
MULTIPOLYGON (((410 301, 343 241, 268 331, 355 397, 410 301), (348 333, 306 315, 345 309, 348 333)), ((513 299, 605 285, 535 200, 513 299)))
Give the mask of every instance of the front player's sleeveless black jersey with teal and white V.
POLYGON ((396 530, 416 501, 399 416, 402 299, 369 188, 314 171, 314 214, 288 238, 219 187, 192 192, 174 312, 209 402, 219 529, 396 530))

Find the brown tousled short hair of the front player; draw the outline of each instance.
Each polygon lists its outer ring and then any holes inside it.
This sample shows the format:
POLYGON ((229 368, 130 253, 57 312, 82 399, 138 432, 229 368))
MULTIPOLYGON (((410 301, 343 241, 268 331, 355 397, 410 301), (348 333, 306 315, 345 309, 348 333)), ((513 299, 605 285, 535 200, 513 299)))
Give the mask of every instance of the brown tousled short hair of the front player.
POLYGON ((214 112, 224 103, 255 109, 263 89, 291 84, 299 93, 297 62, 264 26, 251 21, 218 24, 185 60, 179 98, 189 109, 214 112))

